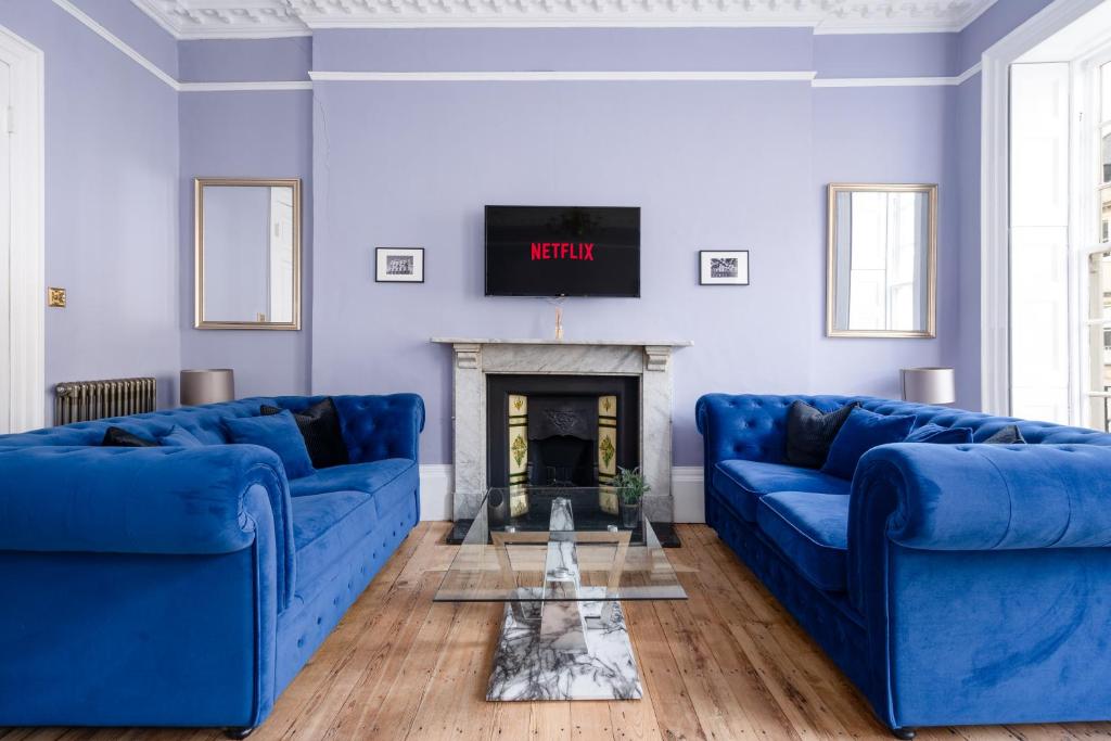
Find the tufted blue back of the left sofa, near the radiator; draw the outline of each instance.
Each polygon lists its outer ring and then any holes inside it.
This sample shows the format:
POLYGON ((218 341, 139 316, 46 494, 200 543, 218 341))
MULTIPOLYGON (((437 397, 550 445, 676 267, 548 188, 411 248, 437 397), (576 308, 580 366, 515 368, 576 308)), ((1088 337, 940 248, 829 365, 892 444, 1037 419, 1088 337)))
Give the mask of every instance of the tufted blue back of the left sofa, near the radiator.
MULTIPOLYGON (((0 447, 27 445, 99 445, 104 431, 112 425, 146 438, 158 438, 180 425, 207 444, 228 442, 223 420, 256 417, 262 404, 301 411, 324 399, 317 397, 252 397, 219 404, 166 409, 146 414, 117 417, 44 428, 19 434, 0 435, 0 447)), ((333 397, 340 414, 343 441, 352 462, 384 458, 417 460, 417 438, 413 430, 424 427, 424 405, 411 393, 388 395, 333 397)))

